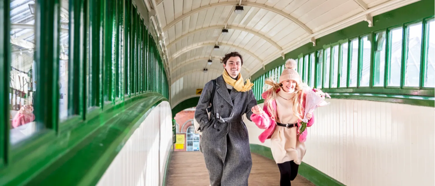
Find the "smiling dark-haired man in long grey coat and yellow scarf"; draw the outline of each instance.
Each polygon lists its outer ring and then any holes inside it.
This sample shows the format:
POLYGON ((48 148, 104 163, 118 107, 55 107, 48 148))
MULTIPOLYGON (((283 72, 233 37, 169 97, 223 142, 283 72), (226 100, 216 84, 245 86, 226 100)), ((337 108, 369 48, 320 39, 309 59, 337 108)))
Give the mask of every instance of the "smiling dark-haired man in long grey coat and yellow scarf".
POLYGON ((224 72, 216 78, 210 119, 207 114, 214 81, 207 82, 199 98, 195 119, 202 131, 201 151, 210 176, 211 186, 248 186, 252 159, 248 129, 243 114, 251 120, 251 108, 257 105, 249 80, 244 84, 240 74, 243 65, 238 52, 222 59, 224 72))

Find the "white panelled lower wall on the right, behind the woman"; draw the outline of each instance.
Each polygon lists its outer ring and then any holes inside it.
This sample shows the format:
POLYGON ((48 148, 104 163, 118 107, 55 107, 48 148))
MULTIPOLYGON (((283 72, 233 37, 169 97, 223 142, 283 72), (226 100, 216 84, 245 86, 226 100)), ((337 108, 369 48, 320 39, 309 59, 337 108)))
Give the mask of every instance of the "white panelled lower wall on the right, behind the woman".
MULTIPOLYGON (((432 186, 435 108, 328 99, 308 127, 304 162, 347 186, 432 186)), ((263 104, 261 104, 262 106, 263 104)), ((244 120, 251 144, 263 130, 244 120)), ((270 140, 264 144, 270 147, 270 140)))

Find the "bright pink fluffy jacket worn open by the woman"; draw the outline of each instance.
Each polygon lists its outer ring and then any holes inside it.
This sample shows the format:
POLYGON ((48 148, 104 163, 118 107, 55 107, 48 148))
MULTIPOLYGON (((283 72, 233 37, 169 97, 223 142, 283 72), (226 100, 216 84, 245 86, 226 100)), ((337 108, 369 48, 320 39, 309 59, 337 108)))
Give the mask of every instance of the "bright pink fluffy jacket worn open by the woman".
MULTIPOLYGON (((277 90, 277 93, 280 89, 277 90)), ((261 97, 263 99, 266 99, 268 96, 268 93, 270 92, 270 90, 263 92, 263 94, 261 94, 261 97)), ((305 98, 306 95, 304 94, 304 98, 302 101, 302 107, 303 109, 305 109, 305 98)), ((276 101, 272 101, 272 108, 274 108, 276 110, 276 101)), ((275 131, 275 127, 277 126, 275 121, 271 119, 271 114, 268 111, 268 107, 266 104, 264 104, 263 106, 263 114, 257 115, 257 114, 252 114, 251 115, 251 121, 253 121, 258 128, 260 129, 265 129, 260 136, 258 136, 258 139, 261 141, 261 143, 264 143, 264 141, 266 141, 267 139, 270 139, 272 134, 275 131)), ((311 117, 311 119, 308 121, 307 123, 307 127, 311 127, 311 125, 314 124, 314 115, 311 117)), ((298 120, 298 134, 299 134, 299 127, 301 127, 301 120, 298 120)), ((305 140, 307 139, 307 132, 308 128, 305 129, 304 132, 302 132, 301 135, 299 135, 299 141, 300 142, 305 142, 305 140)))

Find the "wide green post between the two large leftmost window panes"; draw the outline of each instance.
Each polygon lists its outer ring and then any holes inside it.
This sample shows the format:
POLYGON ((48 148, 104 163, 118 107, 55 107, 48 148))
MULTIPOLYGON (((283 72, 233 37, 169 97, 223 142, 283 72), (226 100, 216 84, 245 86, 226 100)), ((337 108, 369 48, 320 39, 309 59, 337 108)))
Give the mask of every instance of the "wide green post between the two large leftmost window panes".
MULTIPOLYGON (((9 6, 9 5, 8 5, 9 6)), ((60 2, 35 2, 35 57, 37 88, 34 114, 37 127, 57 129, 59 120, 59 42, 60 2)))

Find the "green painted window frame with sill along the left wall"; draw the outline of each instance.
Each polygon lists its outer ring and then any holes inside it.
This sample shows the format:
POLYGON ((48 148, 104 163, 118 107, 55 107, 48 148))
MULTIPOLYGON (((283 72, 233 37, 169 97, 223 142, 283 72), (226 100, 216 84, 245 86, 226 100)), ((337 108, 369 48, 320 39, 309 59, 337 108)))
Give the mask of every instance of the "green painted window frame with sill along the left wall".
POLYGON ((96 123, 113 117, 110 113, 114 111, 124 111, 126 104, 153 96, 164 97, 161 100, 166 101, 169 98, 167 75, 157 44, 145 20, 137 12, 133 14, 131 0, 70 0, 68 117, 60 121, 59 85, 56 83, 59 81, 60 1, 35 3, 40 15, 35 20, 38 25, 35 31, 39 33, 39 37, 35 36, 37 82, 45 88, 37 88, 34 114, 35 121, 45 128, 11 145, 10 0, 0 0, 0 13, 4 17, 0 20, 0 175, 5 175, 0 177, 0 185, 27 183, 30 179, 23 178, 35 177, 68 153, 66 145, 80 144, 80 140, 100 127, 96 123), (90 64, 89 69, 87 64, 90 64), (87 71, 92 75, 89 81, 87 71), (132 88, 136 88, 134 94, 132 88), (80 137, 69 136, 77 130, 82 131, 80 137), (17 166, 23 164, 28 168, 17 166))

